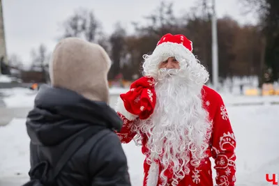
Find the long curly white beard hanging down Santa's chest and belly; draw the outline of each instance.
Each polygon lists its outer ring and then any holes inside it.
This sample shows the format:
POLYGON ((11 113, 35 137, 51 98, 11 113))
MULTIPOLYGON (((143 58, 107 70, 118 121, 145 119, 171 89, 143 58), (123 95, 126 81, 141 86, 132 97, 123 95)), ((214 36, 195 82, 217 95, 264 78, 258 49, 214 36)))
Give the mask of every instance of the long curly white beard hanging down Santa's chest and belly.
POLYGON ((183 70, 160 70, 154 112, 133 128, 137 132, 136 143, 142 140, 140 132, 148 136, 147 162, 160 160, 163 185, 167 182, 163 175, 166 169, 172 169, 172 185, 177 185, 190 172, 189 165, 199 166, 208 148, 211 123, 202 107, 202 84, 186 76, 183 70))

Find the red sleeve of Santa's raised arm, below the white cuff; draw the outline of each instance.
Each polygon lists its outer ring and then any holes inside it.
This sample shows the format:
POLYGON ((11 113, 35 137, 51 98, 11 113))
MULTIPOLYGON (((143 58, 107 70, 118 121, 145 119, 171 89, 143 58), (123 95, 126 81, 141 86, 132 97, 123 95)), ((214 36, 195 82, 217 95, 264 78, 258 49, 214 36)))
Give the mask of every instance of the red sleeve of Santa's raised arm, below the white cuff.
POLYGON ((121 128, 120 132, 116 132, 116 134, 119 136, 119 139, 121 143, 128 144, 132 139, 135 137, 136 132, 132 132, 132 125, 135 122, 135 120, 130 121, 125 116, 117 112, 117 114, 121 117, 123 121, 123 126, 121 128))

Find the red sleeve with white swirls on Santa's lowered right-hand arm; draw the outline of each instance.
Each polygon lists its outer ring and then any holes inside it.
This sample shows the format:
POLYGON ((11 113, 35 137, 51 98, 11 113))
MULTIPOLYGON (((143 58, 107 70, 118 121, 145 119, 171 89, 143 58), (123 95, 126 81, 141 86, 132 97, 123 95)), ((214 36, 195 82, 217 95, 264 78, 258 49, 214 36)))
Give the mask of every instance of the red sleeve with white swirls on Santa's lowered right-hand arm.
POLYGON ((216 169, 216 184, 234 186, 236 181, 236 139, 223 99, 217 94, 216 114, 213 118, 212 148, 216 169))

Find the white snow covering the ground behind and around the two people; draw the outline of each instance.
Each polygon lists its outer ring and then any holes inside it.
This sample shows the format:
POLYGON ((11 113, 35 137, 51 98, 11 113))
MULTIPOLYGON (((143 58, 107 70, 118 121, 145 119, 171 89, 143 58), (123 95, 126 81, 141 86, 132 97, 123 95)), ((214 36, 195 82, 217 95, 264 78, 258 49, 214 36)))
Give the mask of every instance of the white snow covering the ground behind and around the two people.
MULTIPOLYGON (((13 95, 5 98, 7 107, 32 107, 30 91, 13 89, 13 95)), ((123 92, 111 89, 112 97, 123 92)), ((279 173, 279 102, 277 97, 243 97, 224 94, 227 111, 236 136, 236 185, 272 185, 265 180, 266 173, 279 173), (236 106, 242 103, 257 105, 236 106)), ((114 100, 114 99, 112 99, 114 100)), ((113 104, 113 102, 112 102, 113 104)), ((0 127, 0 185, 19 186, 28 179, 29 137, 25 119, 15 118, 0 127)), ((128 157, 130 178, 133 186, 142 185, 144 157, 140 147, 124 144, 128 157)))

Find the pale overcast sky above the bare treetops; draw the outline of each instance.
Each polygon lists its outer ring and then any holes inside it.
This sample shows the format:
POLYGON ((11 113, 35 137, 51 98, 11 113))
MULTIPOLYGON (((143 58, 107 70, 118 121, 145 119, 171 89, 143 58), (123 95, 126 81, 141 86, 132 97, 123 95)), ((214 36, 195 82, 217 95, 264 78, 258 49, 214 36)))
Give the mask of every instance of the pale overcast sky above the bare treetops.
MULTIPOLYGON (((73 15, 77 8, 88 8, 103 24, 105 33, 112 33, 114 24, 121 22, 133 31, 130 22, 143 22, 160 5, 161 0, 2 0, 8 54, 17 54, 24 63, 31 59, 31 49, 40 43, 51 52, 61 36, 61 22, 73 15)), ((210 0, 208 0, 210 1, 210 0)), ((169 2, 169 1, 165 1, 169 2)), ((196 0, 174 0, 174 11, 179 15, 189 10, 196 0)), ((241 0, 216 0, 218 17, 230 15, 241 24, 256 20, 243 15, 241 0)), ((194 44, 195 45, 195 44, 194 44)))

